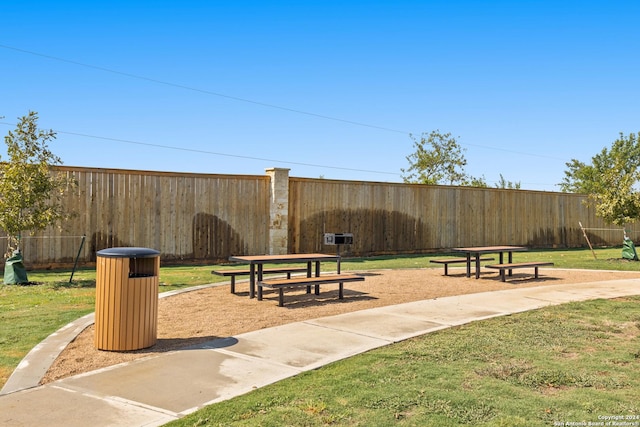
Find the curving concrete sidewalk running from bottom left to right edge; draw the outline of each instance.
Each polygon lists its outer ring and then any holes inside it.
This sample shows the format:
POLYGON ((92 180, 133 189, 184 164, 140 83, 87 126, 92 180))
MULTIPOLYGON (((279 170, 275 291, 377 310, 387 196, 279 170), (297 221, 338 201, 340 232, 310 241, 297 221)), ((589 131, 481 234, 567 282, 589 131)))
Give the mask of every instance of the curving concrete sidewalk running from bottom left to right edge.
MULTIPOLYGON (((206 405, 431 331, 549 305, 638 294, 640 279, 516 288, 262 329, 9 391, 0 395, 0 425, 159 426, 206 405)), ((30 381, 27 374, 23 379, 30 381)))

